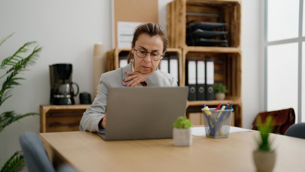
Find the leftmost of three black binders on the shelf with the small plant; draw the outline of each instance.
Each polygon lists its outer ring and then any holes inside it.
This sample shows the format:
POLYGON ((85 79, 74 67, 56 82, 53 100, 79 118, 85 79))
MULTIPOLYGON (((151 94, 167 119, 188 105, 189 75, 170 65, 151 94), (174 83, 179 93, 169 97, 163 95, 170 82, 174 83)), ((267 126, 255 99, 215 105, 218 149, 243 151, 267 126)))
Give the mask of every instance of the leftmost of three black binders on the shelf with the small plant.
POLYGON ((196 100, 196 60, 187 59, 186 61, 186 85, 189 86, 189 101, 196 100))

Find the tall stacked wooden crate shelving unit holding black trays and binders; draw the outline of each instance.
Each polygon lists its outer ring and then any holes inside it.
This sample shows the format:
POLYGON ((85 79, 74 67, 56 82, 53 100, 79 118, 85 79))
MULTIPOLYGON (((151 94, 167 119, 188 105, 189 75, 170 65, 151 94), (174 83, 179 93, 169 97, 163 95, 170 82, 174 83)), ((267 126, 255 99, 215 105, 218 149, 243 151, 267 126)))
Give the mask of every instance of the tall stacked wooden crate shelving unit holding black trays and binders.
MULTIPOLYGON (((219 102, 233 103, 234 125, 242 127, 240 27, 241 3, 239 0, 174 0, 167 5, 167 33, 171 48, 182 49, 182 84, 186 85, 186 62, 188 59, 211 59, 214 61, 214 83, 223 83, 229 93, 225 100, 188 101, 187 112, 201 112, 205 103, 216 107, 219 102), (187 37, 190 21, 225 23, 220 31, 226 46, 190 46, 187 37)), ((218 31, 218 30, 217 30, 218 31)), ((192 38, 194 39, 194 38, 192 38)))

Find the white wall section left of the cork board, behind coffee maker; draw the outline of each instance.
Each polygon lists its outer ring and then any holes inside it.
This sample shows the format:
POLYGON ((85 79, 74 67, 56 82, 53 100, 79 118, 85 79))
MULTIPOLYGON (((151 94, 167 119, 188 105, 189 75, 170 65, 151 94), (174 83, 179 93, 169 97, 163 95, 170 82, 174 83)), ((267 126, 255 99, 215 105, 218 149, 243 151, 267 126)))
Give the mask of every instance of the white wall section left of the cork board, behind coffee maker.
MULTIPOLYGON (((111 1, 1 0, 0 39, 13 32, 15 35, 0 46, 1 61, 26 41, 38 41, 43 50, 37 63, 22 75, 26 80, 2 104, 0 113, 39 113, 39 105, 49 103, 49 65, 54 63, 72 63, 73 81, 81 92, 93 96, 94 44, 103 42, 105 51, 112 45, 111 1)), ((0 133, 0 167, 20 150, 18 136, 26 130, 39 132, 39 116, 21 119, 0 133)))

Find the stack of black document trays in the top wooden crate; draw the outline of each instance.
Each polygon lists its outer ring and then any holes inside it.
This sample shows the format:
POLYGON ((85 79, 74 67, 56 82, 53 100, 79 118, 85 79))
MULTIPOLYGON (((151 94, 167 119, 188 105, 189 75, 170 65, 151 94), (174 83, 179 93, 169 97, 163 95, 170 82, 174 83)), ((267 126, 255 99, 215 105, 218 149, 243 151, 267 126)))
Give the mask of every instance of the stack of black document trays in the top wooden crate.
POLYGON ((226 22, 204 22, 191 20, 187 23, 186 43, 188 46, 225 46, 228 40, 224 26, 226 22))

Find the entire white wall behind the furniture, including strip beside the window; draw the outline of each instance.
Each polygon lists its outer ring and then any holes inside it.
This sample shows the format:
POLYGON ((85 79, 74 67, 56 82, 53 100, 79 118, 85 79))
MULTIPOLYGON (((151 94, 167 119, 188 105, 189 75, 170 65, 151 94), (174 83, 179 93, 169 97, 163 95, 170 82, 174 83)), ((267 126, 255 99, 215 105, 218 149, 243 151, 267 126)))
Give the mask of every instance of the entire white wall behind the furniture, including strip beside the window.
MULTIPOLYGON (((159 22, 166 27, 166 3, 159 0, 159 22)), ((243 123, 251 127, 254 116, 263 110, 260 83, 260 1, 242 1, 242 99, 243 123)), ((126 11, 128 12, 128 11, 126 11)), ((0 60, 12 55, 24 42, 36 40, 43 51, 37 63, 22 77, 22 86, 15 87, 13 96, 1 107, 0 113, 37 112, 40 104, 48 104, 49 65, 72 63, 73 81, 81 92, 93 96, 93 45, 104 43, 104 52, 112 47, 111 0, 1 0, 0 39, 16 32, 0 47, 0 60)), ((3 81, 2 81, 3 82, 3 81)), ((2 84, 0 81, 0 84, 2 84)), ((78 103, 78 97, 76 97, 78 103)), ((39 116, 13 123, 0 133, 0 167, 16 150, 18 137, 26 131, 39 132, 39 116)))

